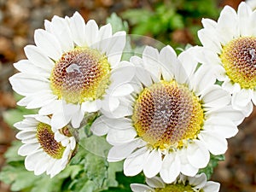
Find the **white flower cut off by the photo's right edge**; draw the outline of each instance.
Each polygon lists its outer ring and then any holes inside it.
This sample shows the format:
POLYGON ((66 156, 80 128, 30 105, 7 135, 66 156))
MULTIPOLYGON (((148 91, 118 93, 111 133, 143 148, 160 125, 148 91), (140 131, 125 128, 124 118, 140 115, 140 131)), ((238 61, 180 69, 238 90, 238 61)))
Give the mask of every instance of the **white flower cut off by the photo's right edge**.
POLYGON ((203 19, 198 32, 201 62, 216 69, 232 105, 249 115, 256 103, 256 11, 242 2, 236 11, 225 6, 218 21, 203 19))

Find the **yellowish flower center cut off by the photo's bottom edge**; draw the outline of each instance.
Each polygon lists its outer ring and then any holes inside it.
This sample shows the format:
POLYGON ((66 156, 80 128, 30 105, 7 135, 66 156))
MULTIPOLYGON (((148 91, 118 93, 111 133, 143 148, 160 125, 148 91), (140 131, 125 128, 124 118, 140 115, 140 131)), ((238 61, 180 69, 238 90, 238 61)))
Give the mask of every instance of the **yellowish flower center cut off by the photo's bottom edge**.
MULTIPOLYGON (((154 189, 155 192, 195 192, 190 185, 184 186, 183 184, 168 184, 165 188, 154 189)), ((200 190, 199 192, 203 192, 200 190)))

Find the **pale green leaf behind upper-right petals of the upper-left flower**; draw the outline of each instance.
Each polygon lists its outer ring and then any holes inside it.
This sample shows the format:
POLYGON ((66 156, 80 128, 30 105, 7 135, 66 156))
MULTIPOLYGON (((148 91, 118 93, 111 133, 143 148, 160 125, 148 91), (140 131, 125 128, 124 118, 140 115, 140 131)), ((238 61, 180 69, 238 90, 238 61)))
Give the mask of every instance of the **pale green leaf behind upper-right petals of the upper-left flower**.
POLYGON ((129 31, 127 21, 122 20, 118 15, 116 15, 116 13, 113 13, 112 15, 110 15, 110 17, 107 18, 107 23, 111 24, 113 33, 119 31, 129 31))

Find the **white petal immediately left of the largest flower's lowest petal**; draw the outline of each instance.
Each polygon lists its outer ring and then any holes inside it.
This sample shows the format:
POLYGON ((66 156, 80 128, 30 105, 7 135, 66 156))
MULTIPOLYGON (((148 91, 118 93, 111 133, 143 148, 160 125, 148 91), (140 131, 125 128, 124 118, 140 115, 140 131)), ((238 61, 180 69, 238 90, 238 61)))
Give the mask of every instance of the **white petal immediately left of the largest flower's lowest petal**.
POLYGON ((146 177, 154 177, 160 172, 162 166, 162 157, 160 151, 154 149, 145 160, 143 172, 146 177))

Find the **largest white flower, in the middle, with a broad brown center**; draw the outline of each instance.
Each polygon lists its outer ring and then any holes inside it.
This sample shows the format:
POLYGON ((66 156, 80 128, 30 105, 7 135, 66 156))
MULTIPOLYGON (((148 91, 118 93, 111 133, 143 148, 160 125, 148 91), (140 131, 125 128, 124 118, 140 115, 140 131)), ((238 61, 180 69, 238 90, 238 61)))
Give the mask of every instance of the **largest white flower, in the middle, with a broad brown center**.
MULTIPOLYGON (((126 176, 144 172, 172 183, 182 172, 195 176, 212 154, 224 154, 226 138, 236 135, 244 118, 230 106, 230 94, 189 50, 178 56, 170 46, 146 47, 133 56, 137 84, 126 98, 129 115, 96 119, 91 130, 108 134, 108 161, 124 160, 126 176)), ((118 114, 119 115, 119 114, 118 114)))

